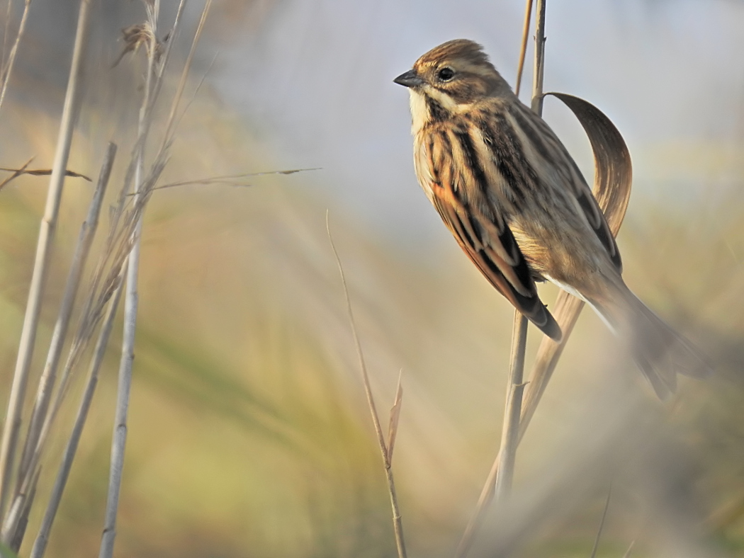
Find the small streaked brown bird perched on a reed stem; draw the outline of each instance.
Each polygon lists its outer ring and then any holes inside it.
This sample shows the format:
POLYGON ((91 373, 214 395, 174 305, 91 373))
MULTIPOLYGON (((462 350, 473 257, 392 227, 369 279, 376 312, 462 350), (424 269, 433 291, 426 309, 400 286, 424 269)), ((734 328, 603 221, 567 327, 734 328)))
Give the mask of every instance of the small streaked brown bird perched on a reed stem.
POLYGON ((708 365, 623 281, 620 252, 577 164, 481 45, 458 39, 395 78, 408 87, 419 183, 483 275, 545 335, 561 331, 535 281, 583 299, 626 339, 662 399, 708 365))

